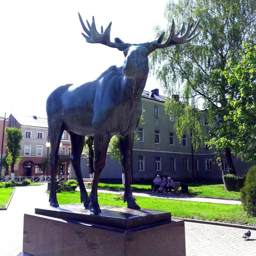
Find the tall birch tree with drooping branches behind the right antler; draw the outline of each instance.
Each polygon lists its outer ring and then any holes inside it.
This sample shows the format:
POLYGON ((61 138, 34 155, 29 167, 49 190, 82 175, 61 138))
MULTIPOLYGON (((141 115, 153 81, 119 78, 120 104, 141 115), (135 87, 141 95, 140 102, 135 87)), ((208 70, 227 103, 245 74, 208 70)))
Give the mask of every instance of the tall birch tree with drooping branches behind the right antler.
MULTIPOLYGON (((169 97, 165 104, 166 112, 175 112, 177 124, 174 128, 180 140, 186 129, 192 129, 192 143, 196 147, 199 146, 196 141, 202 145, 210 137, 221 140, 230 132, 223 123, 226 122, 224 116, 229 116, 228 95, 232 94, 232 86, 222 72, 228 68, 230 58, 241 60, 239 50, 242 49, 242 43, 249 38, 255 39, 255 1, 170 1, 165 16, 169 27, 172 18, 178 23, 201 18, 201 34, 189 44, 176 45, 151 54, 151 66, 166 92, 180 94, 183 91, 180 104, 169 97), (203 109, 209 130, 203 129, 198 108, 203 109)), ((157 27, 156 33, 160 35, 162 29, 157 27)), ((213 145, 211 142, 213 140, 207 141, 216 148, 216 153, 224 147, 228 170, 235 174, 231 150, 236 152, 231 145, 213 145)))

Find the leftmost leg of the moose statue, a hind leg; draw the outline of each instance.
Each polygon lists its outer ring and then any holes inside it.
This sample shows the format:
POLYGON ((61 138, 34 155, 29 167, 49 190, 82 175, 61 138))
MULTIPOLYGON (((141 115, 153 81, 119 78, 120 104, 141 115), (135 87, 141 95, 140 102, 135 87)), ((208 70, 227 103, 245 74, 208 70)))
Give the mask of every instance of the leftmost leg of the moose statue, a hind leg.
MULTIPOLYGON (((49 117, 48 117, 49 118, 49 117)), ((51 143, 51 154, 50 154, 50 166, 51 166, 51 190, 49 196, 50 205, 53 207, 59 207, 56 195, 56 183, 55 175, 57 169, 57 160, 58 160, 58 150, 60 146, 60 138, 64 131, 62 121, 60 118, 49 118, 48 119, 48 134, 50 137, 51 143)))

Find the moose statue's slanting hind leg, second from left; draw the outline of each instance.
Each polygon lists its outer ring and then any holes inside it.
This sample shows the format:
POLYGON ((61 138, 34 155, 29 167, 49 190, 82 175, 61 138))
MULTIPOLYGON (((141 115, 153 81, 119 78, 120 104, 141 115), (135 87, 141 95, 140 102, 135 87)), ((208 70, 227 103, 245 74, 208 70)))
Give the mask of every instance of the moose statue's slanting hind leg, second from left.
POLYGON ((84 202, 85 209, 89 207, 89 196, 86 192, 84 187, 83 177, 81 173, 81 166, 80 166, 80 157, 84 148, 84 136, 72 134, 70 132, 70 140, 71 140, 71 156, 70 161, 76 173, 76 179, 78 181, 78 185, 80 188, 80 199, 81 203, 84 202))

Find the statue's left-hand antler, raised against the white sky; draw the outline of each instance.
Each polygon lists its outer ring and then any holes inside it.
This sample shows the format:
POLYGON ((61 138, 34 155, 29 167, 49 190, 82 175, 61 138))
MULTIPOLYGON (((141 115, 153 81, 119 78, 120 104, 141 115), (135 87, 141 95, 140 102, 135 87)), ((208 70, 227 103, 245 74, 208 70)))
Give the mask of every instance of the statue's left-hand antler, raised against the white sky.
POLYGON ((95 26, 95 20, 94 16, 92 16, 92 25, 90 26, 88 20, 86 20, 86 23, 88 25, 88 28, 84 25, 84 21, 82 20, 82 17, 80 13, 78 12, 79 20, 81 22, 81 25, 84 29, 84 32, 87 34, 87 36, 82 33, 82 35, 85 37, 86 42, 91 44, 104 44, 112 48, 117 48, 120 51, 124 51, 127 47, 131 46, 132 44, 126 44, 123 43, 119 38, 115 38, 115 43, 110 42, 110 28, 112 22, 109 23, 108 27, 103 32, 103 27, 101 26, 101 33, 99 33, 95 26), (120 42, 120 43, 119 43, 120 42))

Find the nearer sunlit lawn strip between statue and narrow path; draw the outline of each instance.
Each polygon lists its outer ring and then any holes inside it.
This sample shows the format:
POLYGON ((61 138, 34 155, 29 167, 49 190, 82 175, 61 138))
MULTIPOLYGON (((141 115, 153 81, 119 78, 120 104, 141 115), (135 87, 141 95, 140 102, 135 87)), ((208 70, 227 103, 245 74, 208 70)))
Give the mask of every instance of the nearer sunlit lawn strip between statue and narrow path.
MULTIPOLYGON (((99 193, 99 204, 127 206, 122 201, 114 200, 114 197, 113 194, 99 193)), ((78 191, 57 193, 57 198, 59 204, 80 203, 78 191)), ((242 205, 199 203, 139 196, 137 196, 136 202, 142 208, 171 212, 173 217, 256 226, 256 218, 247 216, 242 205)))

